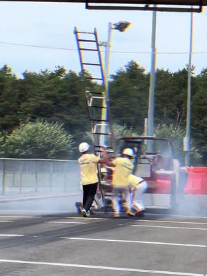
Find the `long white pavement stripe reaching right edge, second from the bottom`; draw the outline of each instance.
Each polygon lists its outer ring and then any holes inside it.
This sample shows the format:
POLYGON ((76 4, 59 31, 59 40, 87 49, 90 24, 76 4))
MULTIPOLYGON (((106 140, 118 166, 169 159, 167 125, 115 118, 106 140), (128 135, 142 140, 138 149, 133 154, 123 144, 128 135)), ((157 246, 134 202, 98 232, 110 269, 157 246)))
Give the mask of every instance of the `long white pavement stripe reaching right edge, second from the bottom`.
POLYGON ((206 248, 206 246, 203 246, 200 244, 172 244, 169 242, 130 241, 126 239, 90 239, 85 237, 60 237, 60 239, 75 239, 80 241, 93 241, 93 242, 125 242, 125 243, 134 243, 134 244, 158 244, 163 246, 191 246, 191 247, 206 248))

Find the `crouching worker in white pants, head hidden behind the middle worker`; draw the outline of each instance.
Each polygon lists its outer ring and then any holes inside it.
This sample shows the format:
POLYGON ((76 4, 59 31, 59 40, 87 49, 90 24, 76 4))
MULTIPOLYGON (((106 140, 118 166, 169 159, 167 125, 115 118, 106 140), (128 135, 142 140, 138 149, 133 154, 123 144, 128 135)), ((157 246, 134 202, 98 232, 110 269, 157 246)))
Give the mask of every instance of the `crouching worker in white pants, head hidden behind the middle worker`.
POLYGON ((129 188, 129 204, 130 210, 128 215, 135 216, 144 213, 145 207, 142 200, 142 195, 146 192, 148 184, 143 178, 137 177, 136 175, 128 176, 128 188, 129 188))

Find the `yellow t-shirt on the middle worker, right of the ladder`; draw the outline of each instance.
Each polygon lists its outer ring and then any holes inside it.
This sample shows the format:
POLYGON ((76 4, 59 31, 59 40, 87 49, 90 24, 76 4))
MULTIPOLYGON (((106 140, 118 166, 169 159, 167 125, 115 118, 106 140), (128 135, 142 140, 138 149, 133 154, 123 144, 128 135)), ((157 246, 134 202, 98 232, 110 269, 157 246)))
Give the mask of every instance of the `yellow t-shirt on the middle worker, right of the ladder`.
POLYGON ((132 172, 133 164, 128 158, 118 157, 112 161, 115 170, 112 175, 113 186, 127 186, 128 176, 132 172))

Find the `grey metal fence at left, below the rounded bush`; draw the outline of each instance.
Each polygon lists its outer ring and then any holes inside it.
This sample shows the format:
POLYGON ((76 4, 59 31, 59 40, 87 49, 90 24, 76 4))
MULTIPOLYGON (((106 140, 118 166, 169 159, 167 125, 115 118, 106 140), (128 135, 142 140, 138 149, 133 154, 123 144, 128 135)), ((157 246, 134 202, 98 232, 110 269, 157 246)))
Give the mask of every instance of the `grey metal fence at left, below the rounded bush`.
POLYGON ((0 195, 79 192, 74 160, 1 158, 0 170, 0 195))

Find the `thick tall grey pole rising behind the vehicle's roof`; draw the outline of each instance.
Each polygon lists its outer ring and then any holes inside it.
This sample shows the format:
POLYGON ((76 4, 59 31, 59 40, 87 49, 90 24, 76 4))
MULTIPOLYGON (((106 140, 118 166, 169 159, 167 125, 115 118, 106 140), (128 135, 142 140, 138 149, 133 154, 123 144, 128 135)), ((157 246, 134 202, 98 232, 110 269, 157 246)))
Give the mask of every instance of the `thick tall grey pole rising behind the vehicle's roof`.
MULTIPOLYGON (((154 5, 156 7, 156 5, 154 5)), ((155 67, 156 67, 156 17, 157 12, 152 12, 152 52, 151 52, 151 71, 150 71, 150 92, 148 101, 148 135, 154 135, 154 95, 155 95, 155 67)))

